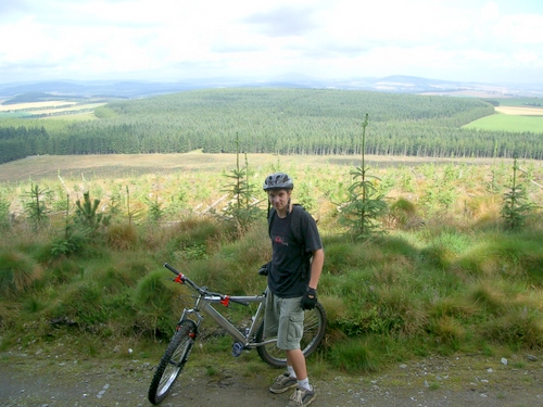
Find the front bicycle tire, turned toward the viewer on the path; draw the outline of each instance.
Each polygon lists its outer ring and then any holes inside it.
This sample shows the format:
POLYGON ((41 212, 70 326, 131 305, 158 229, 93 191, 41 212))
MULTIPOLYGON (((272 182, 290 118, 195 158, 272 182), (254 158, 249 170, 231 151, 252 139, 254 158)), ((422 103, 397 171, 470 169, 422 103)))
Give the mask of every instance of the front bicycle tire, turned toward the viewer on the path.
POLYGON ((157 405, 168 395, 189 358, 195 338, 197 325, 189 319, 182 320, 169 341, 149 386, 148 398, 151 404, 157 405))

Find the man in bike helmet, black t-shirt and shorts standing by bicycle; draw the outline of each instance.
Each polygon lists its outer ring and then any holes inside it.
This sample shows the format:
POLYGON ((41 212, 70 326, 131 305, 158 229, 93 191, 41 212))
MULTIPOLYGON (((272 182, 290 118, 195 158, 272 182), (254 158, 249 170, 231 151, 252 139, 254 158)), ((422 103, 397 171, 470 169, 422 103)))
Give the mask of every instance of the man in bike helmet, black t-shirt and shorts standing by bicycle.
POLYGON ((294 183, 287 174, 272 174, 263 188, 275 209, 269 219, 273 256, 266 268, 269 290, 264 327, 266 336, 277 334, 277 347, 286 351, 288 368, 269 391, 283 393, 295 387, 288 406, 307 406, 315 399, 315 391, 310 384, 300 341, 304 309, 312 309, 317 303, 317 285, 325 260, 323 243, 313 217, 292 204, 294 183), (292 221, 295 217, 299 218, 292 221), (308 256, 312 256, 311 266, 307 266, 308 256))

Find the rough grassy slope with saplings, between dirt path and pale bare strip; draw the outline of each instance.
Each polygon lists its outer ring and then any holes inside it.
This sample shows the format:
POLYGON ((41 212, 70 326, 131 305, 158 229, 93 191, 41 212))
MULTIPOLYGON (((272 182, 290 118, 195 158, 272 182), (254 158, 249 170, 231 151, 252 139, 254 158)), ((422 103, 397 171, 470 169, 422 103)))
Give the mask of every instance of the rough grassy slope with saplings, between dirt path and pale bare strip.
MULTIPOLYGON (((372 164, 389 211, 379 219, 383 233, 361 241, 345 233, 338 212, 356 162, 250 155, 260 215, 240 233, 216 216, 228 202, 236 156, 218 155, 214 164, 215 156, 198 155, 200 166, 180 154, 174 168, 141 175, 135 162, 111 177, 62 167, 60 178, 2 182, 1 348, 31 353, 63 342, 84 355, 116 357, 112 349, 122 343, 135 349, 130 357, 148 358, 169 338, 178 294, 186 293, 167 279, 164 262, 215 291, 262 291, 256 270, 269 242, 261 182, 276 169, 296 180, 295 201, 318 219, 325 243, 319 294, 330 326, 321 364, 359 372, 415 355, 542 347, 543 218, 532 208, 523 228, 505 229, 500 211, 510 162, 372 164), (34 190, 39 221, 29 211, 34 190), (99 202, 94 221, 83 227, 74 202, 85 192, 99 202)), ((518 183, 530 202, 541 202, 541 163, 519 165, 518 183)), ((204 328, 210 352, 229 352, 229 339, 204 328)))

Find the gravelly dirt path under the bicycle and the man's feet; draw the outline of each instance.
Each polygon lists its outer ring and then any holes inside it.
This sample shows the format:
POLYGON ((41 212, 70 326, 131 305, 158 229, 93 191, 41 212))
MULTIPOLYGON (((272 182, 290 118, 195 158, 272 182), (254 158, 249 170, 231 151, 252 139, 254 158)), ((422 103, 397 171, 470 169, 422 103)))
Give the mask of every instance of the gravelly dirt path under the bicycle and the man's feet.
MULTIPOLYGON (((371 376, 329 374, 313 378, 313 406, 528 407, 543 406, 541 355, 433 357, 399 364, 371 376)), ((190 360, 189 360, 190 364, 190 360)), ((280 371, 262 365, 248 377, 227 364, 210 376, 184 371, 165 407, 286 406, 290 392, 267 391, 280 371)), ((154 365, 141 360, 70 360, 56 356, 0 355, 1 406, 150 406, 147 391, 154 365)))

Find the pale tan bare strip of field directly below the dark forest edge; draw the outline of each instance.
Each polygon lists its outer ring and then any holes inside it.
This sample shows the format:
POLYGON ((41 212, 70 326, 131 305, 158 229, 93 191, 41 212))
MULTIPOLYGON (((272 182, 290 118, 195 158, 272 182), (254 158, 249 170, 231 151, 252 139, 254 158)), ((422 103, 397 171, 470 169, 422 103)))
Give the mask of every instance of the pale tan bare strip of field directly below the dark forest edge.
MULTIPOLYGON (((359 164, 359 157, 353 155, 291 155, 248 154, 248 161, 258 167, 270 167, 282 163, 290 166, 296 163, 303 167, 328 165, 349 166, 359 164)), ((367 155, 366 162, 374 167, 393 167, 401 165, 422 165, 425 163, 457 163, 490 165, 492 158, 428 158, 413 156, 367 155)), ((510 163, 510 160, 501 162, 510 163)), ((100 154, 100 155, 35 155, 0 165, 0 182, 24 181, 33 179, 56 178, 62 174, 68 177, 92 178, 130 177, 144 174, 174 174, 187 171, 206 171, 220 174, 230 170, 236 164, 235 154, 204 154, 192 151, 184 154, 100 154)))

